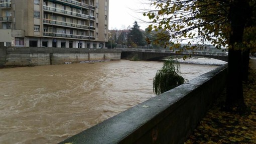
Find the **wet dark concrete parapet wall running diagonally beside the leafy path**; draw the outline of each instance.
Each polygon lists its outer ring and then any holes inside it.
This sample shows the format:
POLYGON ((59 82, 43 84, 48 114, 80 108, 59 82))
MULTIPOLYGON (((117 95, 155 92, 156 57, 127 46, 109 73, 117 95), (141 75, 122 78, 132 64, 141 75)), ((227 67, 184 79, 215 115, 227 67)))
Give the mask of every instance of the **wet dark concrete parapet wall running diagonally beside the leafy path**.
POLYGON ((153 97, 60 143, 184 143, 225 88, 227 65, 153 97))

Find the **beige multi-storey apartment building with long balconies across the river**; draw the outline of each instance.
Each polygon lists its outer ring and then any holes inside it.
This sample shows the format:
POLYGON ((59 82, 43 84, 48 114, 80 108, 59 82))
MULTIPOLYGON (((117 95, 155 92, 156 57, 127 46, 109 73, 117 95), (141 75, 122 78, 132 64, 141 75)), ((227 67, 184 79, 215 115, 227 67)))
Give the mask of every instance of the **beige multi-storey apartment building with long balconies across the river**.
POLYGON ((0 0, 0 43, 104 48, 109 0, 0 0))

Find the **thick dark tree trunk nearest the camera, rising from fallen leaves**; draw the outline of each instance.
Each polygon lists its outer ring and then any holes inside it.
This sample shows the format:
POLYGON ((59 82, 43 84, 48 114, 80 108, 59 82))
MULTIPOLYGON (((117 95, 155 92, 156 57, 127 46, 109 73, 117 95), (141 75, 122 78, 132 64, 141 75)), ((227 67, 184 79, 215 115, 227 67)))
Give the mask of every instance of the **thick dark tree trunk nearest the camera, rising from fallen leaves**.
POLYGON ((242 89, 242 40, 246 23, 247 1, 234 0, 230 6, 231 34, 228 49, 227 110, 243 111, 246 108, 242 89))

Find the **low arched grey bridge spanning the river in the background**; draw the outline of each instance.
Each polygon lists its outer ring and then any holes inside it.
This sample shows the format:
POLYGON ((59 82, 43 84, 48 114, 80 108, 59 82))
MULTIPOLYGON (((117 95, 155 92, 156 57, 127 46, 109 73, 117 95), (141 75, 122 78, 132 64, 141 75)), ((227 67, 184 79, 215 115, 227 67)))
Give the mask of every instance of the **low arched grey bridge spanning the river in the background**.
POLYGON ((152 49, 121 49, 121 59, 131 59, 138 56, 140 60, 161 60, 165 57, 175 55, 191 55, 218 59, 227 62, 228 55, 219 52, 204 52, 204 51, 170 51, 170 50, 152 50, 152 49))

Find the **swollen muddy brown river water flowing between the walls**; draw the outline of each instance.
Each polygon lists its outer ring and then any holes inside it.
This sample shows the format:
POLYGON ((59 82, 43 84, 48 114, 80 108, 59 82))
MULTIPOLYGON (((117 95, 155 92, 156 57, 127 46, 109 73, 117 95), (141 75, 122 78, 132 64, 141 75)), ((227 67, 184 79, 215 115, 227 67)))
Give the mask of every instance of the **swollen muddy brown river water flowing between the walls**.
MULTIPOLYGON (((154 97, 162 62, 110 61, 0 69, 0 143, 58 143, 154 97)), ((214 69, 181 64, 191 80, 214 69)))

